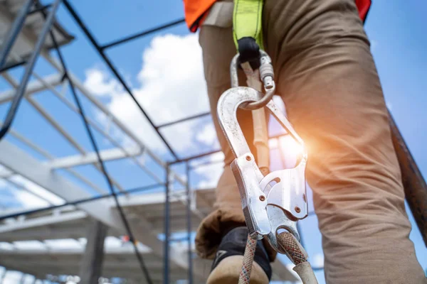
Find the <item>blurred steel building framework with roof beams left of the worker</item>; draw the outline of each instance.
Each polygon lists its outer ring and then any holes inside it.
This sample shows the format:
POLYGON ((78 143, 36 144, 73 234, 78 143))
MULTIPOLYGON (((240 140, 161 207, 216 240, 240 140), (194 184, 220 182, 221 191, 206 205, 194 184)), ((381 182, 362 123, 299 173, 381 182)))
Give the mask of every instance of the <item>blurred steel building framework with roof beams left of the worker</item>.
MULTIPOLYGON (((218 153, 218 150, 211 149, 206 153, 179 157, 160 130, 184 121, 201 119, 210 114, 201 113, 164 124, 154 124, 152 118, 135 98, 132 89, 117 71, 114 62, 105 53, 108 48, 182 23, 184 23, 184 19, 178 19, 100 45, 68 0, 54 0, 45 6, 33 0, 0 1, 0 37, 3 38, 0 51, 0 72, 4 80, 9 82, 12 87, 12 89, 0 93, 0 104, 11 102, 9 114, 2 123, 0 131, 0 137, 5 136, 0 141, 0 164, 3 165, 3 168, 0 168, 0 178, 32 195, 41 197, 38 192, 44 190, 53 193, 59 199, 56 202, 46 199, 50 204, 48 207, 20 212, 2 212, 0 244, 10 247, 4 249, 3 246, 0 246, 1 266, 34 275, 35 279, 44 279, 47 274, 52 273, 76 275, 78 262, 84 251, 81 239, 85 237, 85 226, 91 220, 96 219, 110 228, 108 238, 117 241, 117 237, 127 234, 134 246, 134 251, 130 246, 106 246, 105 269, 102 276, 121 277, 139 282, 142 280, 142 283, 170 283, 183 279, 188 280, 188 283, 203 283, 206 280, 210 261, 201 259, 194 261, 196 256, 194 256, 191 241, 192 232, 196 229, 197 224, 213 209, 214 190, 196 190, 191 187, 190 173, 191 170, 194 170, 191 162, 218 153), (73 40, 73 36, 69 35, 56 21, 55 13, 60 5, 65 7, 81 28, 112 75, 120 82, 141 114, 149 121, 150 126, 167 146, 174 160, 164 161, 159 155, 150 151, 129 126, 117 119, 105 104, 91 94, 78 80, 78 77, 66 68, 68 58, 64 58, 60 50, 61 46, 73 40), (58 53, 59 61, 51 55, 52 50, 56 50, 58 53), (35 72, 34 65, 39 57, 46 60, 56 70, 56 74, 43 77, 35 72), (11 70, 19 67, 24 67, 25 72, 22 80, 18 82, 11 75, 11 70), (30 77, 33 77, 34 80, 28 82, 30 77), (63 87, 63 90, 70 87, 75 102, 68 99, 63 91, 58 90, 60 86, 63 87), (64 107, 83 119, 93 146, 92 152, 86 151, 78 140, 49 113, 48 109, 45 109, 33 98, 34 94, 44 90, 50 91, 64 107), (105 114, 110 124, 114 124, 117 129, 125 133, 127 138, 135 143, 135 146, 131 148, 123 146, 97 121, 90 116, 85 116, 79 96, 84 97, 97 111, 105 114), (28 102, 78 154, 65 157, 52 155, 48 149, 36 145, 22 133, 16 131, 13 128, 13 119, 21 100, 28 102), (105 138, 115 148, 98 149, 94 133, 105 138), (11 138, 13 139, 11 140, 11 138), (18 141, 20 146, 12 143, 13 141, 18 141), (32 154, 28 153, 28 149, 32 154), (41 158, 34 157, 33 153, 41 158), (149 158, 162 170, 152 170, 152 166, 144 163, 142 158, 149 158), (118 180, 112 178, 110 173, 107 173, 104 165, 108 161, 122 159, 128 160, 136 168, 143 170, 154 182, 151 185, 126 189, 118 180), (77 170, 83 165, 90 165, 101 173, 107 181, 110 192, 77 170), (184 176, 174 170, 176 165, 184 165, 184 176), (76 180, 80 185, 76 184, 76 180), (174 189, 175 184, 179 184, 181 189, 174 189), (34 186, 38 190, 34 190, 34 186), (96 193, 91 194, 85 188, 90 188, 96 193), (164 192, 152 192, 153 189, 162 188, 164 188, 164 192), (135 195, 137 192, 147 190, 151 190, 151 192, 135 195), (173 234, 183 233, 183 231, 184 234, 181 235, 184 237, 174 239, 173 234), (80 240, 80 246, 63 251, 49 246, 46 241, 48 239, 80 240), (19 249, 17 247, 19 241, 28 240, 37 240, 42 244, 42 249, 19 249), (137 245, 136 241, 142 241, 143 245, 137 245), (139 259, 139 264, 136 261, 137 258, 132 256, 133 253, 139 259)), ((394 131, 397 129, 395 128, 394 131)), ((278 139, 283 135, 273 136, 271 139, 278 139)), ((404 144, 403 140, 399 143, 404 144)), ((196 167, 206 166, 210 163, 212 162, 202 162, 196 167)), ((414 163, 412 162, 411 165, 414 163)), ((425 187, 425 182, 423 185, 425 187)), ((275 280, 296 280, 295 276, 280 261, 275 261, 273 266, 275 280)), ((0 283, 4 274, 0 275, 0 283)))

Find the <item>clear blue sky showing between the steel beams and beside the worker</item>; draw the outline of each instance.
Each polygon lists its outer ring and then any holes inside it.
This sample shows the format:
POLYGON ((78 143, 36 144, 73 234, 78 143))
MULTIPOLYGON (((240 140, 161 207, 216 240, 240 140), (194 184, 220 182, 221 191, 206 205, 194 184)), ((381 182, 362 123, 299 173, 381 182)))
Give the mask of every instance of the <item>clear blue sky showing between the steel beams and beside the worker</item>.
MULTIPOLYGON (((48 3, 48 1, 45 1, 45 3, 48 3)), ((164 0, 162 4, 159 4, 159 1, 140 0, 73 0, 71 3, 78 13, 80 13, 85 23, 90 27, 90 30, 100 44, 109 43, 125 35, 130 35, 183 16, 181 1, 164 0)), ((424 175, 427 173, 427 153, 424 147, 427 133, 423 131, 427 124, 427 114, 425 112, 427 98, 424 95, 427 89, 425 71, 427 65, 427 37, 424 31, 427 26, 426 11, 426 1, 418 0, 401 4, 400 2, 398 3, 398 1, 376 0, 371 7, 365 26, 369 39, 371 40, 371 51, 379 71, 386 102, 389 109, 391 109, 391 113, 401 133, 406 139, 406 143, 408 143, 411 153, 424 175)), ((70 18, 63 7, 61 7, 58 12, 58 18, 67 31, 76 38, 73 43, 63 48, 63 54, 70 70, 73 70, 73 73, 77 75, 82 82, 88 80, 88 70, 100 71, 103 76, 102 86, 111 83, 114 87, 114 81, 111 79, 107 67, 102 64, 102 59, 90 46, 88 40, 86 40, 85 36, 81 33, 78 26, 75 25, 73 19, 70 18)), ((129 82, 132 87, 141 89, 142 94, 147 92, 147 89, 144 89, 144 84, 147 84, 147 80, 138 79, 138 74, 144 70, 144 66, 152 66, 142 61, 142 54, 147 48, 153 48, 154 45, 152 40, 155 37, 169 33, 181 36, 189 35, 186 26, 179 25, 174 28, 169 28, 167 31, 149 35, 145 38, 134 40, 130 43, 125 43, 124 45, 107 50, 107 55, 115 62, 115 65, 126 78, 127 82, 129 82)), ((174 40, 174 38, 171 40, 174 40)), ((164 40, 163 43, 165 42, 167 41, 164 40)), ((181 41, 178 43, 179 45, 177 46, 181 46, 181 43, 183 44, 182 46, 186 44, 186 42, 184 43, 181 41)), ((172 46, 172 48, 174 48, 174 46, 172 46)), ((161 60, 162 58, 157 59, 161 60)), ((187 72, 184 67, 185 66, 183 66, 183 72, 187 72)), ((22 70, 22 68, 17 68, 11 72, 11 74, 19 78, 22 74, 22 70)), ((39 75, 49 75, 53 72, 53 69, 48 67, 48 64, 43 62, 43 60, 39 60, 36 66, 36 72, 38 72, 39 75)), ((164 84, 167 83, 164 82, 164 84)), ((6 82, 0 81, 0 90, 7 88, 9 88, 9 86, 6 82)), ((121 90, 118 89, 117 93, 120 92, 121 90)), ((171 96, 173 95, 174 94, 171 94, 171 96)), ((66 94, 66 97, 69 99, 71 98, 69 93, 66 94)), ((99 94, 98 98, 102 102, 105 102, 105 104, 115 103, 117 99, 114 95, 110 96, 106 94, 99 94)), ((85 151, 92 150, 83 129, 83 124, 77 115, 66 110, 64 107, 60 107, 58 99, 55 99, 49 92, 37 94, 36 101, 43 104, 43 106, 48 109, 49 113, 54 116, 65 129, 70 131, 72 136, 83 145, 85 151)), ((93 106, 84 99, 83 103, 85 108, 88 109, 88 114, 93 119, 100 120, 93 106)), ((198 105, 202 107, 200 109, 195 109, 194 114, 208 110, 206 107, 203 107, 205 106, 204 102, 200 102, 198 105)), ((1 105, 0 114, 2 117, 4 117, 5 110, 6 106, 1 105)), ((171 112, 171 116, 173 116, 174 119, 181 118, 182 111, 179 111, 179 107, 170 107, 168 111, 171 112)), ((155 115, 155 113, 153 115, 155 115)), ((102 124, 102 121, 100 121, 100 124, 102 124)), ((209 125, 211 125, 211 121, 205 119, 198 124, 188 126, 186 129, 201 131, 209 125)), ((56 157, 78 154, 78 152, 64 141, 63 138, 58 136, 58 133, 56 133, 51 126, 48 126, 26 102, 24 102, 19 109, 19 114, 14 123, 14 129, 25 134, 31 141, 48 149, 51 154, 56 157), (33 121, 38 127, 33 128, 28 126, 28 120, 33 121), (43 129, 44 132, 41 133, 39 129, 43 129)), ((169 141, 172 142, 172 145, 174 145, 174 143, 176 143, 176 141, 174 141, 174 135, 176 133, 170 132, 168 134, 168 131, 169 129, 165 129, 164 134, 169 138, 169 141)), ((8 137, 8 139, 22 146, 13 138, 8 137)), ((106 149, 112 147, 112 144, 105 141, 105 138, 102 138, 99 134, 97 134, 97 141, 99 141, 101 148, 106 149)), ((125 143, 124 141, 122 142, 125 143)), ((192 152, 209 151, 209 149, 217 147, 215 141, 198 139, 197 136, 191 137, 190 142, 191 146, 181 147, 181 151, 179 151, 181 155, 191 155, 192 152)), ((31 152, 28 149, 26 149, 26 151, 31 152)), ((170 155, 164 153, 162 149, 159 149, 157 153, 162 155, 165 159, 170 158, 170 155)), ((31 154, 36 155, 35 153, 31 154)), ((37 158, 43 159, 39 156, 37 156, 37 158)), ((155 167, 154 162, 150 160, 147 160, 147 164, 155 167)), ((135 166, 131 166, 125 161, 107 163, 107 168, 110 173, 112 173, 113 177, 120 181, 125 188, 153 183, 153 180, 150 180, 141 170, 135 168, 135 166)), ((180 173, 184 173, 184 168, 182 166, 177 166, 174 169, 180 173)), ((88 176, 100 187, 107 188, 102 175, 97 173, 91 166, 79 167, 76 170, 88 176)), ((164 175, 159 167, 154 168, 154 171, 159 176, 164 175)), ((216 170, 216 172, 218 172, 218 170, 216 170)), ((65 173, 63 174, 65 175, 65 173)), ((196 186, 199 185, 199 182, 206 180, 206 175, 204 175, 204 173, 193 173, 192 178, 194 186, 196 186)), ((79 183, 79 185, 81 184, 79 183)), ((86 187, 85 185, 81 186, 86 187)), ((13 187, 7 187, 1 191, 5 196, 10 197, 10 203, 3 204, 4 206, 19 207, 19 201, 14 199, 14 190, 16 189, 13 187)), ((95 194, 95 192, 93 192, 93 194, 95 194)), ((312 206, 310 209, 312 209, 312 206)), ((423 240, 410 213, 409 217, 413 224, 411 239, 416 247, 416 255, 418 261, 420 261, 423 268, 426 269, 426 246, 423 244, 423 240)), ((317 229, 317 219, 316 217, 308 217, 300 223, 306 249, 312 258, 316 256, 316 260, 319 261, 322 248, 320 232, 317 229)), ((312 261, 314 260, 312 259, 312 261)), ((320 278, 320 283, 325 283, 322 271, 316 274, 317 277, 320 278)))

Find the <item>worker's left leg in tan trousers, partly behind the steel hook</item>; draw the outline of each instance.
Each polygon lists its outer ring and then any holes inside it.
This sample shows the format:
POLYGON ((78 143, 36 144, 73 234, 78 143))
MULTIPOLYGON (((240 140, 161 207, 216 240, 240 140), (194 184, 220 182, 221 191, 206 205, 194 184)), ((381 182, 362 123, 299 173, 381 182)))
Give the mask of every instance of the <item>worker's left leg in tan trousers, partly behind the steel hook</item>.
MULTIPOLYGON (((202 26, 199 42, 203 50, 204 73, 208 87, 211 114, 221 149, 225 155, 224 170, 216 188, 215 210, 201 222, 196 236, 196 249, 200 256, 210 258, 216 253, 223 234, 236 226, 244 226, 240 195, 236 180, 231 173, 233 153, 218 124, 216 105, 219 97, 230 89, 230 62, 236 55, 231 28, 202 26)), ((241 76, 241 81, 244 80, 241 76)), ((253 141, 250 111, 238 111, 238 121, 248 141, 253 141)))

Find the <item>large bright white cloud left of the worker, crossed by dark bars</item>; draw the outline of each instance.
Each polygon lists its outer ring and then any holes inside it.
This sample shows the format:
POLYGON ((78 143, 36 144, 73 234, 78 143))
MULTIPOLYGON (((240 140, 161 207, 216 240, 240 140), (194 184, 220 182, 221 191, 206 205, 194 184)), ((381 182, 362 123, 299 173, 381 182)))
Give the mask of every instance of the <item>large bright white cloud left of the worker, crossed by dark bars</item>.
MULTIPOLYGON (((120 121, 152 150, 166 151, 135 102, 114 79, 96 68, 88 70, 86 76, 85 86, 94 94, 108 97, 110 102, 107 107, 120 121)), ((142 69, 137 75, 137 83, 132 92, 154 124, 207 111, 209 102, 197 35, 162 35, 154 38, 142 55, 142 69)), ((199 124, 199 121, 189 121, 162 129, 162 133, 176 151, 185 151, 191 147, 199 124)), ((206 142, 211 143, 207 139, 206 142)))

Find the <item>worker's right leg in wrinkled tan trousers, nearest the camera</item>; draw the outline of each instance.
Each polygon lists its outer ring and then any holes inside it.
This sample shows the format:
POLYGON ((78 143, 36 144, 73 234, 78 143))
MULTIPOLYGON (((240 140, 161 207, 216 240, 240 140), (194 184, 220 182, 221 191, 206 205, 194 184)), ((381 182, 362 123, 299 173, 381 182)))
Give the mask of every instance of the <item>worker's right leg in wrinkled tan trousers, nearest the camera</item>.
POLYGON ((354 0, 267 0, 263 17, 278 92, 309 151, 327 283, 426 283, 354 0))

